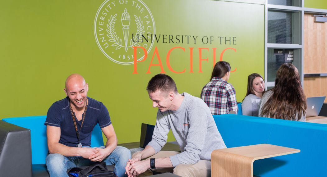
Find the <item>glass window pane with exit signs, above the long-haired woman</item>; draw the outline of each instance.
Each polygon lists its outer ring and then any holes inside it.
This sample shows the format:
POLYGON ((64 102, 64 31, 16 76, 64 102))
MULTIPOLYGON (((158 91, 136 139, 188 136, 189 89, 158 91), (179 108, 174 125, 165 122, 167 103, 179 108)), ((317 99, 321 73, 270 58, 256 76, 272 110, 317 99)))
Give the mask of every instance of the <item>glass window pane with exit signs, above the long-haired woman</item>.
POLYGON ((301 74, 301 49, 272 49, 268 48, 268 54, 267 54, 267 82, 275 82, 276 73, 278 68, 285 62, 292 63, 295 65, 295 67, 299 70, 299 73, 301 74), (282 55, 278 54, 277 51, 283 51, 282 55), (289 53, 293 53, 293 60, 289 61, 288 59, 291 59, 291 56, 288 57, 288 55, 292 55, 289 53), (286 55, 286 57, 285 57, 286 55))

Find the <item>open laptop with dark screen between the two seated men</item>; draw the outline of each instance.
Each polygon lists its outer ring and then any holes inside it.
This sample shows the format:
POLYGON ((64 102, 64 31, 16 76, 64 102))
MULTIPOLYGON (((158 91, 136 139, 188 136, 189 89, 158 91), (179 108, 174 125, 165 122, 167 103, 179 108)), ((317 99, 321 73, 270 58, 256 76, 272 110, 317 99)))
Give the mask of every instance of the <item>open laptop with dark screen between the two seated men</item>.
POLYGON ((144 148, 146 147, 146 145, 149 144, 149 142, 151 141, 153 131, 154 131, 154 125, 149 125, 149 124, 142 123, 142 125, 141 125, 140 147, 139 148, 129 149, 129 151, 132 154, 136 153, 138 151, 143 151, 144 148))

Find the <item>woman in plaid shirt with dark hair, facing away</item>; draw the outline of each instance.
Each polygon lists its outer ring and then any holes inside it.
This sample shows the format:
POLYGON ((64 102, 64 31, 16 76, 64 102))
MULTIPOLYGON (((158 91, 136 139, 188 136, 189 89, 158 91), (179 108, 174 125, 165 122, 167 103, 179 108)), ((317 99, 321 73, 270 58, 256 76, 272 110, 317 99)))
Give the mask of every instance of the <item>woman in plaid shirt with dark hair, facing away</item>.
POLYGON ((230 75, 231 65, 226 61, 217 62, 210 82, 201 91, 201 99, 209 106, 213 115, 238 111, 235 89, 227 82, 230 75))

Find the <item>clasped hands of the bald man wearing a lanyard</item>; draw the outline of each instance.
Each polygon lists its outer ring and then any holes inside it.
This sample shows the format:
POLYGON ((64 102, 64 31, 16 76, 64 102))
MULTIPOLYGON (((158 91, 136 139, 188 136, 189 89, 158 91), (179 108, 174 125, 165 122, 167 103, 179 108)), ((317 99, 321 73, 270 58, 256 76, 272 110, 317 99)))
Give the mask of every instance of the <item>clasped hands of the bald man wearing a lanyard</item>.
POLYGON ((101 162, 104 158, 106 158, 110 152, 107 149, 101 148, 80 148, 80 156, 86 159, 90 159, 93 162, 101 162))

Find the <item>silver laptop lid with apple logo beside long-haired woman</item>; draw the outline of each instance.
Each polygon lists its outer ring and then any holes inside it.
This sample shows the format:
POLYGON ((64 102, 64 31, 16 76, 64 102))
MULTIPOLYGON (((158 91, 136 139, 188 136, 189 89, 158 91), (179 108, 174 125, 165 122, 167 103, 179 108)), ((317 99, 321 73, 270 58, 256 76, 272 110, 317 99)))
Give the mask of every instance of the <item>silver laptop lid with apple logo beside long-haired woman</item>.
POLYGON ((306 117, 318 116, 322 105, 324 104, 326 96, 308 97, 306 117))

